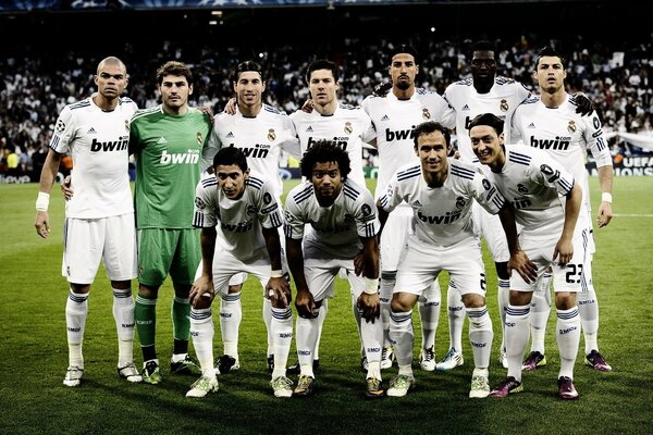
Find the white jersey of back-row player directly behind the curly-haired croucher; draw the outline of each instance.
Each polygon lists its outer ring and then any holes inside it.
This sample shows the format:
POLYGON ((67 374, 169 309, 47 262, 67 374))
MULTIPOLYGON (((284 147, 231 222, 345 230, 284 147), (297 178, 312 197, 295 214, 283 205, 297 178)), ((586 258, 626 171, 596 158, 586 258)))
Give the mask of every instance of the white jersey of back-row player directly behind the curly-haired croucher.
POLYGON ((348 104, 338 104, 332 115, 322 115, 313 110, 306 113, 298 110, 289 115, 299 138, 301 154, 318 140, 328 139, 347 151, 352 172, 348 177, 365 186, 362 167, 362 142, 377 137, 372 121, 361 109, 348 104))

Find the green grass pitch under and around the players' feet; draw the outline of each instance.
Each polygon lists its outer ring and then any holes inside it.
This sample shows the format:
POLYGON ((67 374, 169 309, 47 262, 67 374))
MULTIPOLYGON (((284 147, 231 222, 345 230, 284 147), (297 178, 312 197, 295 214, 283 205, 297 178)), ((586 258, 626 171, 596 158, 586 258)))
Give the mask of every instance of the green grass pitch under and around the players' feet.
MULTIPOLYGON (((373 182, 371 182, 373 184, 373 182)), ((600 194, 592 178, 594 209, 600 194)), ((289 185, 286 185, 286 191, 289 185)), ((220 376, 220 390, 205 399, 184 397, 195 381, 167 375, 172 347, 170 283, 160 291, 157 345, 163 383, 128 384, 118 378, 111 291, 100 270, 89 298, 84 355, 86 372, 77 388, 63 386, 67 365, 64 306, 67 285, 61 276, 63 201, 51 200, 51 237, 34 231, 37 184, 0 186, 0 433, 2 434, 651 434, 653 433, 653 178, 615 179, 615 217, 595 231, 594 282, 599 293, 599 344, 611 373, 582 365, 583 341, 575 382, 580 400, 556 398, 559 358, 553 334, 546 339, 549 365, 525 373, 525 393, 506 399, 467 397, 472 357, 465 331, 465 364, 452 372, 418 369, 416 388, 405 398, 366 400, 359 369, 359 341, 350 297, 338 281, 325 322, 313 397, 275 399, 266 371, 261 291, 249 281, 243 291, 241 364, 220 376)), ((496 277, 485 252, 488 306, 495 339, 490 383, 505 371, 497 363, 501 327, 496 277)), ((446 283, 446 276, 441 277, 446 283)), ((134 294, 136 282, 134 282, 134 294)), ((443 295, 446 301, 446 296, 443 295)), ((443 303, 446 304, 446 303, 443 303)), ((416 343, 420 334, 415 316, 416 343)), ((217 321, 217 316, 215 316, 217 321)), ((436 358, 446 352, 446 311, 436 337, 436 358)), ((215 355, 222 353, 219 326, 215 355)), ((417 348, 416 348, 417 349, 417 348)), ((293 348, 294 351, 294 348, 293 348)), ((135 345, 138 366, 140 351, 135 345)), ((291 355, 291 360, 295 356, 291 355)), ((396 368, 384 371, 384 382, 396 368)))

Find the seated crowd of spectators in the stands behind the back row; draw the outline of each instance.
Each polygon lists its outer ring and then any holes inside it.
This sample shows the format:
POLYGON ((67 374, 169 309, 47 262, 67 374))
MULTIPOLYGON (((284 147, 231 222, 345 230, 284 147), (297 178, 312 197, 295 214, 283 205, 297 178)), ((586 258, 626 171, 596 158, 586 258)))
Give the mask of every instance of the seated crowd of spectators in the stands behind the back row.
MULTIPOLYGON (((428 35, 409 38, 421 54, 418 86, 442 94, 455 80, 470 76, 467 61, 470 40, 433 40, 428 35)), ((653 41, 632 44, 624 50, 615 41, 589 41, 580 36, 571 40, 538 40, 521 36, 514 41, 497 40, 497 74, 513 77, 532 88, 532 61, 543 44, 554 44, 568 59, 568 90, 581 90, 593 101, 606 132, 641 133, 652 130, 653 41)), ((384 48, 393 44, 384 38, 344 39, 336 48, 316 53, 310 39, 298 44, 274 45, 259 52, 243 47, 214 49, 197 42, 162 44, 143 47, 125 44, 120 53, 48 53, 19 51, 0 65, 3 87, 0 90, 1 174, 26 174, 38 179, 58 113, 62 108, 91 94, 95 64, 104 54, 120 55, 130 65, 128 96, 140 108, 159 103, 153 72, 165 60, 182 60, 197 76, 192 105, 208 105, 218 113, 233 96, 230 71, 247 59, 267 69, 267 102, 291 113, 308 98, 303 79, 306 66, 316 57, 326 55, 342 67, 343 101, 359 104, 386 76, 389 63, 384 48), (143 59, 148 61, 144 62, 143 59), (16 158, 17 157, 17 158, 16 158), (17 165, 16 165, 17 162, 17 165)), ((624 140, 611 140, 613 154, 629 156, 640 151, 624 140)), ((368 157, 373 165, 373 156, 368 157)), ((65 167, 62 169, 65 172, 65 167)))

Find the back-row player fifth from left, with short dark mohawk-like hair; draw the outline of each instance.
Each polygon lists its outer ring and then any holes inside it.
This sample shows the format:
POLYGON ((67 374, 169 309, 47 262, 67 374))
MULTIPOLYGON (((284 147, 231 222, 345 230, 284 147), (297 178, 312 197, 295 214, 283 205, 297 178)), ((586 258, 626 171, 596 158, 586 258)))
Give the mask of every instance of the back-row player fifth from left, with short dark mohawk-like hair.
MULTIPOLYGON (((415 86, 419 73, 417 52, 412 47, 399 45, 390 52, 389 73, 392 90, 383 97, 369 96, 362 101, 364 110, 370 115, 377 132, 375 146, 379 151, 379 179, 375 198, 380 198, 391 176, 404 164, 417 162, 414 151, 412 130, 424 121, 436 121, 448 128, 454 127, 454 111, 436 92, 415 86)), ((385 223, 381 238, 381 306, 384 328, 384 347, 381 368, 392 365, 393 353, 387 337, 390 328, 390 298, 395 286, 399 257, 406 247, 412 210, 401 204, 385 223)), ((440 285, 433 282, 423 294, 419 304, 422 325, 420 366, 435 370, 434 345, 440 321, 440 285)))

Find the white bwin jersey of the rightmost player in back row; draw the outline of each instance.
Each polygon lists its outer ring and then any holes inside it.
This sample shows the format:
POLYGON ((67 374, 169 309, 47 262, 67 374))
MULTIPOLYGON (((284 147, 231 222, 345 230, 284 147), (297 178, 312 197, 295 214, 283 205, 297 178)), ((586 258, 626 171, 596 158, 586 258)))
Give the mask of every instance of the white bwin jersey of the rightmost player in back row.
POLYGON ((539 148, 553 157, 574 175, 583 189, 583 203, 589 212, 590 196, 586 160, 588 150, 597 166, 612 166, 612 157, 607 141, 601 128, 596 112, 590 116, 576 113, 576 101, 571 96, 556 109, 549 109, 540 97, 529 98, 517 108, 510 125, 507 140, 510 144, 539 148))

